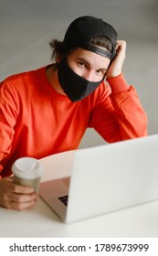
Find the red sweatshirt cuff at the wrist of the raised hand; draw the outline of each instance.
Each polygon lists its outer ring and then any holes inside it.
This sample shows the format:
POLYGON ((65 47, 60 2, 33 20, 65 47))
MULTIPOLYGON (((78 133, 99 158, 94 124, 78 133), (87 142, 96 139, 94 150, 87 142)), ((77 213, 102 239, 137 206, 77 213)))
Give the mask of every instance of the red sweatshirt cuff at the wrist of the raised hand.
POLYGON ((110 84, 113 93, 128 91, 130 89, 130 86, 127 84, 122 73, 117 77, 107 79, 107 81, 110 84))

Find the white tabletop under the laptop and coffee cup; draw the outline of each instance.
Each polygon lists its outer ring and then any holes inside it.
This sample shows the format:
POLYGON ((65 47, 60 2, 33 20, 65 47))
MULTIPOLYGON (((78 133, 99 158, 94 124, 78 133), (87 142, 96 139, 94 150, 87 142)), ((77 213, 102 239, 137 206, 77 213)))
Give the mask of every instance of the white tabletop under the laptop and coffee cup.
MULTIPOLYGON (((52 158, 40 160, 45 167, 43 181, 63 176, 52 158), (55 163, 53 161, 53 163, 55 163)), ((63 165, 69 154, 60 154, 63 165)), ((66 174, 68 172, 66 171, 66 174)), ((158 237, 158 201, 123 209, 93 219, 65 224, 39 197, 36 206, 24 211, 0 208, 0 237, 54 237, 54 238, 145 238, 158 237)))

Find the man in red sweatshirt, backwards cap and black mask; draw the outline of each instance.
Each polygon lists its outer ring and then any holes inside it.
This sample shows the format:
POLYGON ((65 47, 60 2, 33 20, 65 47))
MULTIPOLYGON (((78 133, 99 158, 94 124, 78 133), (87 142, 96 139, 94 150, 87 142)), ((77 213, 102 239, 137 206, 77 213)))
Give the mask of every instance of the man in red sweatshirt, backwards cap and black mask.
POLYGON ((63 41, 54 39, 50 46, 53 64, 0 84, 0 205, 5 208, 21 210, 37 200, 31 187, 17 186, 9 177, 17 158, 76 149, 88 127, 108 143, 147 135, 146 114, 121 73, 126 43, 117 41, 110 24, 81 16, 63 41))

